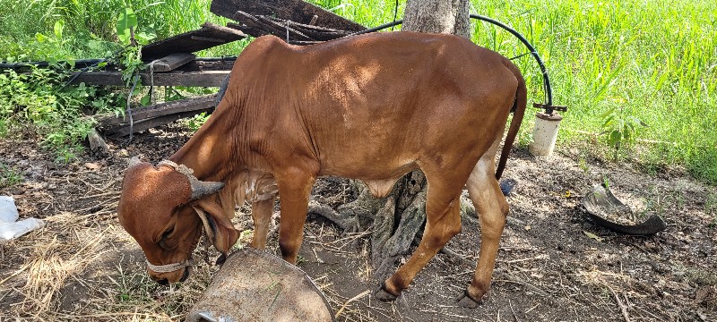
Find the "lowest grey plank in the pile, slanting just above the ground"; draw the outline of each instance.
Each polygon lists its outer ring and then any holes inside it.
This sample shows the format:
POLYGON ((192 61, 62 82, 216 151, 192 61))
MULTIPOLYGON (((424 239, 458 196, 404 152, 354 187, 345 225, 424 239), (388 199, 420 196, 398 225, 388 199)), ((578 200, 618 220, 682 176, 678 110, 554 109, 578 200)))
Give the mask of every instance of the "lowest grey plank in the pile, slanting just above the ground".
MULTIPOLYGON (((138 123, 145 119, 164 116, 167 114, 204 110, 214 107, 216 99, 216 95, 207 95, 203 97, 191 97, 171 102, 164 102, 151 106, 135 107, 132 109, 132 120, 134 123, 138 123)), ((95 121, 99 123, 98 126, 109 126, 129 122, 129 117, 117 117, 114 113, 97 114, 93 117, 95 121)))

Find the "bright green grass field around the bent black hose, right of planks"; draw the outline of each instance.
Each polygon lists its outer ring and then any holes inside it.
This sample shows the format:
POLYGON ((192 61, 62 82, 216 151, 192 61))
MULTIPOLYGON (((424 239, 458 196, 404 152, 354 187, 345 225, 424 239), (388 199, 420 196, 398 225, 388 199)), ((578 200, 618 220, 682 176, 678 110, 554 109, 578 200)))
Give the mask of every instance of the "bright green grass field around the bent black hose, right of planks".
MULTIPOLYGON (((367 26, 393 20, 393 1, 315 3, 345 4, 334 12, 367 26)), ((635 117, 648 125, 636 129, 637 140, 622 146, 618 160, 636 161, 648 172, 679 165, 717 184, 717 3, 481 0, 472 2, 471 13, 504 21, 536 47, 549 69, 554 104, 569 108, 561 145, 611 130, 602 127, 601 115, 613 110, 619 120, 635 117)), ((507 57, 527 51, 504 30, 473 23, 480 46, 507 57)), ((543 102, 538 65, 530 55, 514 62, 528 80, 531 102, 543 102)), ((523 144, 531 125, 527 117, 523 144)), ((612 158, 605 147, 604 157, 612 158)))

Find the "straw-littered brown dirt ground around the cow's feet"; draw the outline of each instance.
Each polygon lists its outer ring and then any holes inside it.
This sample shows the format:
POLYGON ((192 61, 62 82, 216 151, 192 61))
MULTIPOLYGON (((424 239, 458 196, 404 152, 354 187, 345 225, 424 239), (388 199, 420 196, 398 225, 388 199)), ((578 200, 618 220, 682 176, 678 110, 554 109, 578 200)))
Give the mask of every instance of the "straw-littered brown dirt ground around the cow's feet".
MULTIPOLYGON (((21 217, 45 227, 0 246, 0 321, 181 320, 202 295, 218 256, 202 245, 193 275, 161 286, 144 272, 143 253, 117 221, 117 199, 129 157, 157 163, 188 138, 172 125, 109 141, 107 157, 90 154, 59 165, 30 134, 0 140, 2 163, 23 181, 0 189, 21 217)), ((635 165, 596 159, 591 146, 560 147, 556 157, 514 151, 504 178, 518 185, 489 297, 478 309, 454 299, 471 281, 479 250, 477 221, 421 271, 395 302, 373 298, 368 250, 371 227, 346 234, 309 216, 299 267, 343 321, 714 321, 717 320, 717 188, 678 169, 652 176, 635 165), (593 185, 608 181, 639 211, 657 213, 667 230, 626 236, 592 225, 580 206, 593 185), (358 245, 354 247, 355 245, 358 245)), ((315 199, 333 207, 350 201, 348 185, 325 179, 315 199)), ((278 209, 278 208, 277 208, 278 209)), ((251 240, 249 208, 234 219, 251 240)), ((276 233, 269 251, 278 253, 276 233)), ((406 255, 408 258, 408 255, 406 255)))

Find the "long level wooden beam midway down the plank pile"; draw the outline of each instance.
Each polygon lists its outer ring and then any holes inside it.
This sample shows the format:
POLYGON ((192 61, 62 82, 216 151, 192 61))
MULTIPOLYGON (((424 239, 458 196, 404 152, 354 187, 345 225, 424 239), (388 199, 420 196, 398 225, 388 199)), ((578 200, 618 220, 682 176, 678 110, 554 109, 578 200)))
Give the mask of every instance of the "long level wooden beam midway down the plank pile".
MULTIPOLYGON (((70 77, 79 72, 73 72, 70 77)), ((221 82, 229 75, 229 71, 204 72, 141 72, 140 79, 145 86, 197 86, 220 87, 221 82), (152 80, 153 78, 153 80, 152 80)), ((126 86, 122 80, 122 72, 82 72, 73 80, 73 84, 84 82, 88 85, 126 86)))

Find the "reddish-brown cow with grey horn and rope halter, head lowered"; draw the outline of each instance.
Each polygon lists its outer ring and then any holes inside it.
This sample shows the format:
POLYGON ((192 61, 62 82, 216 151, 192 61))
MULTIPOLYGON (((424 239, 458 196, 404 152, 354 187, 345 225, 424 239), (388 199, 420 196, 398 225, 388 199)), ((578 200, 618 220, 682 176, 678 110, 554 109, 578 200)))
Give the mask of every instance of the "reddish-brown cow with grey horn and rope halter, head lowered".
POLYGON ((360 179, 380 197, 420 169, 428 180, 423 239, 376 296, 393 300, 461 231, 467 186, 482 242, 461 305, 475 307, 490 287, 508 213, 497 177, 525 103, 514 64, 464 38, 374 33, 307 47, 256 38, 212 117, 171 161, 127 170, 120 223, 144 250, 151 277, 174 283, 188 275, 203 227, 222 254, 237 242, 230 219, 245 199, 255 223, 251 246, 263 249, 279 196, 281 254, 296 263, 317 177, 360 179))

